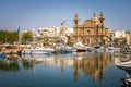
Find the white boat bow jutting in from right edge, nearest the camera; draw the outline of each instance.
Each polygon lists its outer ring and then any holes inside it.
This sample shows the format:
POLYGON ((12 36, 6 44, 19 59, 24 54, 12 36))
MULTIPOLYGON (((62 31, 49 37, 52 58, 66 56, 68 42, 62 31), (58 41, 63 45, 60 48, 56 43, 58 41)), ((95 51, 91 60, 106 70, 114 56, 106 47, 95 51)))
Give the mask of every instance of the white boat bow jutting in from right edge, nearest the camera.
POLYGON ((131 71, 131 61, 122 62, 120 64, 117 64, 116 66, 126 71, 131 71))

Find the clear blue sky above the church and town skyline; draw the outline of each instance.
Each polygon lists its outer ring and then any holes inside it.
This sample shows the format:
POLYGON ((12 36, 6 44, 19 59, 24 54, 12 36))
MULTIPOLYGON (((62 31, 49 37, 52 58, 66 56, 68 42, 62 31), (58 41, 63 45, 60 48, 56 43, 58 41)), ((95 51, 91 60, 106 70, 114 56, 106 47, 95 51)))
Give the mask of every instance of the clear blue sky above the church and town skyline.
POLYGON ((106 27, 131 29, 131 0, 0 0, 0 28, 73 27, 74 14, 81 22, 94 12, 104 12, 106 27))

